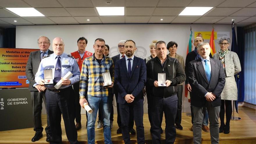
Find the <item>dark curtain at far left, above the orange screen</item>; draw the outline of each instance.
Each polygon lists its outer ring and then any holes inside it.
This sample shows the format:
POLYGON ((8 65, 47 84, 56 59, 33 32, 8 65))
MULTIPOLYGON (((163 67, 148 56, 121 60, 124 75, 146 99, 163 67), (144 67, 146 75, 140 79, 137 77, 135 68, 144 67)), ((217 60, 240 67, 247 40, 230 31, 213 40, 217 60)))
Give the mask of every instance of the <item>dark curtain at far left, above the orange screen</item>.
POLYGON ((3 47, 15 48, 16 28, 8 28, 3 30, 3 47))

